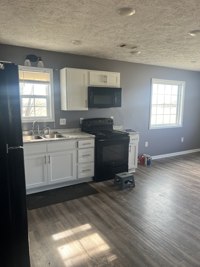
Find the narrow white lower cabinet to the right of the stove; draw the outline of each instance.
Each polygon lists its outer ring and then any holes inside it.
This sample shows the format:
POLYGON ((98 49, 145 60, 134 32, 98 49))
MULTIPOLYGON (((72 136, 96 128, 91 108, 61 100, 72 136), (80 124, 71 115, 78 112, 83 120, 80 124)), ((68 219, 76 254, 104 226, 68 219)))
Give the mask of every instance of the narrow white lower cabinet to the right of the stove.
POLYGON ((130 135, 129 151, 128 151, 128 171, 135 172, 138 167, 138 142, 139 135, 130 135))

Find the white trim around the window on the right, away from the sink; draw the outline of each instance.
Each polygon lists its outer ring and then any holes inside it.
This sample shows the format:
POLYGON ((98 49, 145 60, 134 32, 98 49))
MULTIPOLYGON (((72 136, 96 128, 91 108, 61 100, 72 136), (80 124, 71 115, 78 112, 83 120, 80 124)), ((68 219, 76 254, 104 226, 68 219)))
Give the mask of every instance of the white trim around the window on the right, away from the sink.
POLYGON ((178 128, 183 127, 183 105, 184 105, 184 95, 185 95, 185 81, 175 81, 175 80, 165 80, 165 79, 151 79, 151 98, 150 98, 150 112, 149 112, 149 130, 153 129, 167 129, 167 128, 178 128), (178 104, 177 104, 177 123, 176 124, 158 124, 156 126, 151 125, 151 113, 152 113, 152 93, 153 84, 164 84, 164 85, 179 85, 178 88, 178 104))

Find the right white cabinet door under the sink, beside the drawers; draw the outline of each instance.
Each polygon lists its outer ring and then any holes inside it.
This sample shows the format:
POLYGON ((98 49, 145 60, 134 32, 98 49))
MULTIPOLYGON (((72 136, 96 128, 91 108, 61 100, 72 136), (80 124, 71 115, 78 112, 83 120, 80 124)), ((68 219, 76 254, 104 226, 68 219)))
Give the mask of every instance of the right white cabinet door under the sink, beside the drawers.
POLYGON ((76 151, 62 151, 47 154, 48 184, 76 179, 76 151))

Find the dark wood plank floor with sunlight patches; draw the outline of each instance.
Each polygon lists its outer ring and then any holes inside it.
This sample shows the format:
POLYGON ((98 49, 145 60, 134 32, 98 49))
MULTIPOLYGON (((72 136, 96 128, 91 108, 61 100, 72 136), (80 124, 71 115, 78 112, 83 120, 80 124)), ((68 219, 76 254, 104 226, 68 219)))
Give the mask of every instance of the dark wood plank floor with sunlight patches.
POLYGON ((28 211, 32 267, 199 267, 200 152, 138 165, 136 187, 28 211))

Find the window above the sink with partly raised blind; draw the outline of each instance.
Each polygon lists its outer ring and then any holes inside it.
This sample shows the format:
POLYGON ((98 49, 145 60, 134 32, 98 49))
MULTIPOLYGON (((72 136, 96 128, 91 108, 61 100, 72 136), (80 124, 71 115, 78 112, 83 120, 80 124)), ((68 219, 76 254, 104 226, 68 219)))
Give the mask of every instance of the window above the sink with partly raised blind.
POLYGON ((19 66, 22 122, 54 121, 53 69, 19 66))

